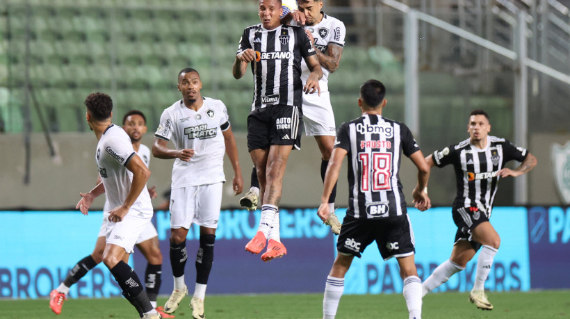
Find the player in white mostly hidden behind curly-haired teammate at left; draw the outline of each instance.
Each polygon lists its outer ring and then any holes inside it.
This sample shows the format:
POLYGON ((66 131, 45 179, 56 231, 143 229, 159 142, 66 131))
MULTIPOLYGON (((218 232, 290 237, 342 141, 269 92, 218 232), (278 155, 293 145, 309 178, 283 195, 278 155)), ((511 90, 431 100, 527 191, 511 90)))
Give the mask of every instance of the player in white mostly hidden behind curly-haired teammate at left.
MULTIPOLYGON (((147 131, 145 115, 136 110, 127 112, 123 117, 123 129, 127 132, 129 138, 131 138, 133 149, 137 155, 142 159, 143 163, 149 167, 150 149, 140 142, 142 135, 147 131)), ((131 174, 130 172, 128 173, 131 174)), ((97 184, 99 183, 101 183, 101 177, 98 175, 97 184)), ((154 186, 148 188, 148 191, 151 198, 156 197, 154 186)), ((66 300, 70 287, 83 278, 83 276, 87 275, 89 270, 95 268, 96 265, 103 261, 106 230, 110 223, 108 216, 111 209, 113 209, 113 207, 111 207, 111 204, 105 199, 103 221, 101 222, 95 249, 90 255, 76 263, 58 288, 51 291, 49 306, 54 313, 61 313, 63 301, 66 300)), ((158 233, 152 222, 149 222, 147 227, 140 233, 140 236, 136 240, 136 246, 148 261, 145 271, 145 288, 152 306, 156 308, 156 297, 158 296, 158 291, 161 286, 162 254, 158 245, 158 233)), ((159 307, 157 311, 160 313, 161 307, 159 307)), ((163 318, 170 318, 166 313, 161 313, 161 315, 165 315, 163 318)))

